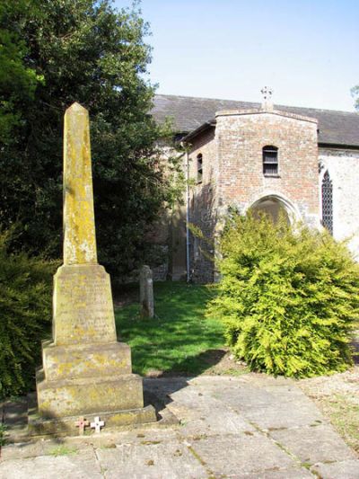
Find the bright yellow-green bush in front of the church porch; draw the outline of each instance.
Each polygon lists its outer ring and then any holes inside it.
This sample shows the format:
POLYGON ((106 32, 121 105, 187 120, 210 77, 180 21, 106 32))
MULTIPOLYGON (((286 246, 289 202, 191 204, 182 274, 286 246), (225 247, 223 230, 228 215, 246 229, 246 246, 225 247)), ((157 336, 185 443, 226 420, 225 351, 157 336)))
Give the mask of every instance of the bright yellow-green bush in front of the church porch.
POLYGON ((220 243, 219 315, 236 358, 288 377, 342 371, 352 363, 359 266, 328 232, 281 218, 233 217, 220 243))

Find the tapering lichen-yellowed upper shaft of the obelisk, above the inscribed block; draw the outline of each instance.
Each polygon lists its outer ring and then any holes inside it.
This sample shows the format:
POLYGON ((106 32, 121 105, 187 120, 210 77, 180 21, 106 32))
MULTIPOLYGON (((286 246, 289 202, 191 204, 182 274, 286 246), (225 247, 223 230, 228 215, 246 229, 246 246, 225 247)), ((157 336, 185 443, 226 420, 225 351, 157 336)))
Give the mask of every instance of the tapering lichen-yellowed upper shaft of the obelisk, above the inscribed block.
POLYGON ((89 112, 76 102, 65 113, 64 264, 97 264, 89 112))

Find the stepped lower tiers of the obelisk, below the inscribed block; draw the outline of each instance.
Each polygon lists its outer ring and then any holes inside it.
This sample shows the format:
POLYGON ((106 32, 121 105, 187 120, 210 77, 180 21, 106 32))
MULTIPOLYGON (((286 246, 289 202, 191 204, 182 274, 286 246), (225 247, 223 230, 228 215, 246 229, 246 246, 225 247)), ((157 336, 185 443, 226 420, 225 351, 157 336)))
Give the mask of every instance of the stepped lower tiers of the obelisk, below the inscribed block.
POLYGON ((89 421, 100 416, 109 427, 156 421, 153 407, 144 407, 142 377, 131 374, 127 344, 44 342, 42 359, 30 434, 76 435, 80 416, 89 421))

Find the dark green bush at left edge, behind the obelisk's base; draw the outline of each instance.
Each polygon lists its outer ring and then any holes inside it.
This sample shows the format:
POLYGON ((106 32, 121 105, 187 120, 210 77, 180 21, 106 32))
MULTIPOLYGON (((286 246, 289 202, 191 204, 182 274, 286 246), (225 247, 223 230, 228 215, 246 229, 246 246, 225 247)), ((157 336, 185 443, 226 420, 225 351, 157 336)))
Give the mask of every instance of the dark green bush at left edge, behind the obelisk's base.
POLYGON ((0 234, 0 397, 34 385, 40 342, 51 324, 54 262, 6 250, 0 234))

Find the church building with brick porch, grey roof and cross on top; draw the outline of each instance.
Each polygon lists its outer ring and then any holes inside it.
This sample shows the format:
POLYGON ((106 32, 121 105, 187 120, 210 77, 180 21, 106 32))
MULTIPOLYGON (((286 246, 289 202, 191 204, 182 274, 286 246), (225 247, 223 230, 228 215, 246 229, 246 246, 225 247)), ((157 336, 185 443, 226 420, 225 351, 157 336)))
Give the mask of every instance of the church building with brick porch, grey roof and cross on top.
POLYGON ((165 237, 171 279, 215 280, 215 245, 192 235, 187 224, 215 238, 229 208, 240 213, 280 212, 288 222, 326 227, 350 238, 359 258, 359 115, 273 105, 156 95, 153 117, 170 117, 187 146, 189 180, 183 207, 173 211, 165 237), (210 251, 208 251, 210 248, 210 251), (208 254, 209 253, 209 254, 208 254))

